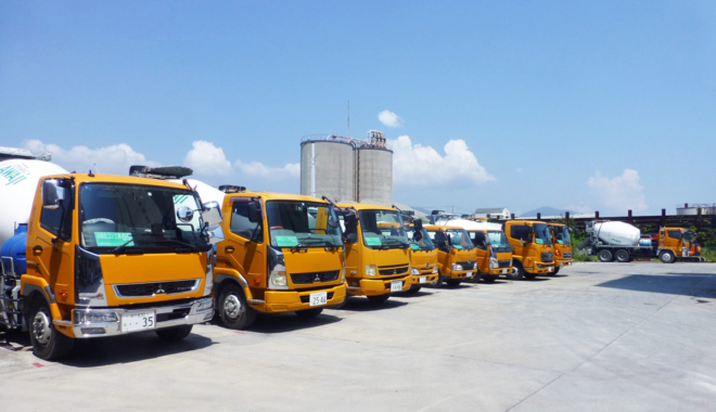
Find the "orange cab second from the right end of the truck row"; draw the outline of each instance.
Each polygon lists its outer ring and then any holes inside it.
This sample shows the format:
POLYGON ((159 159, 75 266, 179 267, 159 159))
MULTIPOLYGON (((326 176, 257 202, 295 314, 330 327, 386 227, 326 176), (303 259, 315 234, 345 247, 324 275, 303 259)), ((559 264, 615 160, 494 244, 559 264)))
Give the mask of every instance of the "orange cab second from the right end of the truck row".
POLYGON ((554 271, 552 231, 547 223, 533 220, 508 220, 504 234, 512 246, 515 278, 535 279, 554 271))

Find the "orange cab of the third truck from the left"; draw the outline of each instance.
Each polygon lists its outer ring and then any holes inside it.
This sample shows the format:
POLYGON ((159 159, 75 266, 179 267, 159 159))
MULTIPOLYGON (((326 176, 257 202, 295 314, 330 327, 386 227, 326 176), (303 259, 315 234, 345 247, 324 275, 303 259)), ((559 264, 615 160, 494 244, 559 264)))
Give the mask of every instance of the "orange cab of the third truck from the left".
POLYGON ((400 213, 380 205, 340 203, 346 247, 348 294, 386 301, 392 293, 408 292, 410 242, 400 213), (385 230, 391 226, 389 230, 385 230))

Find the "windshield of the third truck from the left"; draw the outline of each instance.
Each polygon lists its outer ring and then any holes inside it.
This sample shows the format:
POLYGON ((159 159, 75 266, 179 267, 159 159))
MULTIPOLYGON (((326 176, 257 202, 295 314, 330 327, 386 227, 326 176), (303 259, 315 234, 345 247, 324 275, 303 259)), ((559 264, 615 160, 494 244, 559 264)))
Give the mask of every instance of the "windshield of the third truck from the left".
POLYGON ((383 249, 408 247, 402 217, 394 210, 360 210, 360 231, 363 243, 383 249))

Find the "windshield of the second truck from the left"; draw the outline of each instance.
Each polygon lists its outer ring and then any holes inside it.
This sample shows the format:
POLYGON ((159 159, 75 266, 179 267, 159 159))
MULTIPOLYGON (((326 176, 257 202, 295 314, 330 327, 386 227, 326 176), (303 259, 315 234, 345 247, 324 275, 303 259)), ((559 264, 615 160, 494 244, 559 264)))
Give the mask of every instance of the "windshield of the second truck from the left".
POLYGON ((271 246, 274 247, 341 247, 341 229, 329 220, 338 221, 333 206, 297 201, 266 202, 271 246))

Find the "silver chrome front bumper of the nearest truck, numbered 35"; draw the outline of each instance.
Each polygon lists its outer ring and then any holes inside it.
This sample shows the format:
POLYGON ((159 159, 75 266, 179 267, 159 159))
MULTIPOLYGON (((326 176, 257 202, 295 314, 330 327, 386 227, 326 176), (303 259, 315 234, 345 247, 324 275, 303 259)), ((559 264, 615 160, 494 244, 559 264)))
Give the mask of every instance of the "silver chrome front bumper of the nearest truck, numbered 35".
MULTIPOLYGON (((76 338, 92 338, 104 336, 127 335, 135 332, 155 331, 164 327, 192 325, 212 320, 214 317, 214 298, 202 297, 192 301, 184 301, 177 305, 143 307, 142 309, 123 309, 123 308, 102 308, 102 309, 75 309, 73 310, 72 330, 76 338), (116 321, 85 321, 77 322, 79 318, 77 312, 84 314, 91 313, 97 316, 114 316, 116 321), (139 313, 154 313, 154 327, 142 330, 126 331, 123 330, 122 317, 139 313)), ((57 325, 66 326, 66 321, 55 321, 57 325)))

